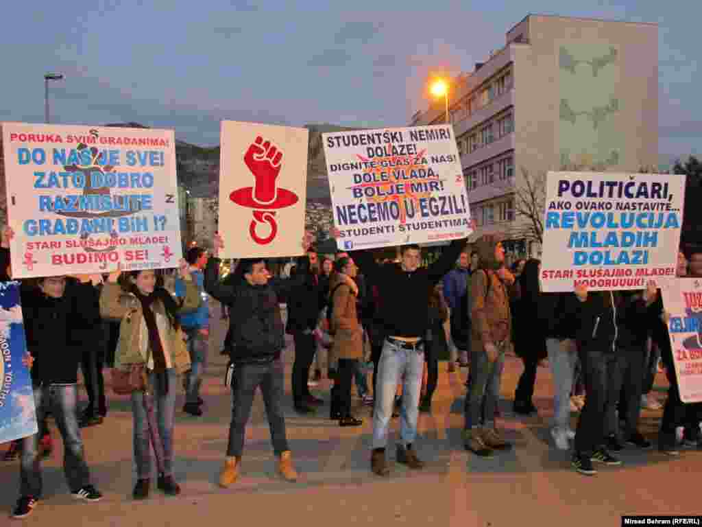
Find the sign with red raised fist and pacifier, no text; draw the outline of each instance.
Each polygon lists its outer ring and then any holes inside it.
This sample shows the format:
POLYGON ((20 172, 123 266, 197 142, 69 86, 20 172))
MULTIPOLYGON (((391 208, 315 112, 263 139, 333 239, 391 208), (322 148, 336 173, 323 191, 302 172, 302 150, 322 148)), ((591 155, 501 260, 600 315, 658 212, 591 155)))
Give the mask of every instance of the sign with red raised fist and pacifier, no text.
POLYGON ((222 258, 303 253, 308 134, 303 128, 222 122, 222 258))

